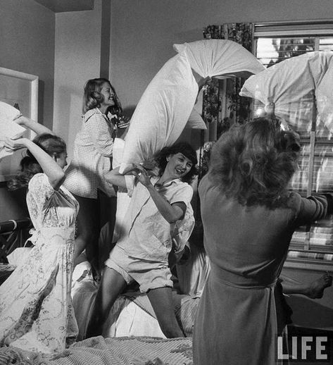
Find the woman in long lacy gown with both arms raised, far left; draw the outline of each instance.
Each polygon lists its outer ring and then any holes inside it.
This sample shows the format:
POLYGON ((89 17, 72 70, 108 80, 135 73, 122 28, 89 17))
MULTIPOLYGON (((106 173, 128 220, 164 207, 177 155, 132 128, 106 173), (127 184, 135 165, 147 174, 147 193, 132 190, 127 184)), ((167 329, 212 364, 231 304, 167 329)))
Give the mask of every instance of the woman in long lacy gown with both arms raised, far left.
MULTIPOLYGON (((21 117, 34 132, 48 131, 21 117)), ((79 204, 63 187, 66 144, 52 132, 4 141, 7 149, 27 149, 21 171, 9 187, 27 188, 34 230, 33 248, 0 286, 0 346, 62 352, 78 333, 70 297, 75 220, 79 204)))

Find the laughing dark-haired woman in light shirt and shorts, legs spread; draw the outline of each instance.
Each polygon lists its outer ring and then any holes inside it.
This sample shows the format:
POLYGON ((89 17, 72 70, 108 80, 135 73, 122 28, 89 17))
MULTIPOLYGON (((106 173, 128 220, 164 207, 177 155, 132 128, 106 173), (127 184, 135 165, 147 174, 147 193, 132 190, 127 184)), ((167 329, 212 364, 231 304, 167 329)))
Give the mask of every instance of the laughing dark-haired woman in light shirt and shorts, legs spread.
MULTIPOLYGON (((101 335, 115 299, 133 280, 147 293, 165 337, 184 337, 175 317, 168 255, 172 238, 189 236, 194 226, 189 182, 196 175, 196 152, 181 142, 162 149, 156 163, 157 177, 149 176, 142 165, 124 171, 135 177, 132 199, 124 231, 105 263, 87 337, 101 335)), ((127 190, 128 178, 119 168, 106 174, 111 184, 127 190)))

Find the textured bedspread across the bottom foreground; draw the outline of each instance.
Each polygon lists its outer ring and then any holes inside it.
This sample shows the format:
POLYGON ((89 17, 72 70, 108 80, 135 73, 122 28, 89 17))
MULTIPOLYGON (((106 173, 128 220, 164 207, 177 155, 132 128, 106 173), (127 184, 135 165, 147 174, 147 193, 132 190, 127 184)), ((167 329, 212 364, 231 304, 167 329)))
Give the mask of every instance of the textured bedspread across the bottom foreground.
POLYGON ((58 354, 0 349, 0 364, 29 365, 191 365, 191 338, 102 338, 77 342, 58 354))

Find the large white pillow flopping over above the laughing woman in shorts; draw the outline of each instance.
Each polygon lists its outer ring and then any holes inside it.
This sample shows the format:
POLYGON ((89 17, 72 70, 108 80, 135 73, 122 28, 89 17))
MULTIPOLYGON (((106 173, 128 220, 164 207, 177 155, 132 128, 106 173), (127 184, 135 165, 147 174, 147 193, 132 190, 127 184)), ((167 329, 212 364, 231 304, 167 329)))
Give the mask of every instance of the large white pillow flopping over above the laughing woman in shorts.
POLYGON ((202 78, 249 76, 264 69, 244 47, 225 39, 175 44, 174 48, 177 56, 165 63, 137 104, 120 172, 127 164, 149 159, 175 143, 188 120, 189 128, 204 128, 201 118, 193 118, 195 112, 191 115, 199 90, 192 69, 202 78))

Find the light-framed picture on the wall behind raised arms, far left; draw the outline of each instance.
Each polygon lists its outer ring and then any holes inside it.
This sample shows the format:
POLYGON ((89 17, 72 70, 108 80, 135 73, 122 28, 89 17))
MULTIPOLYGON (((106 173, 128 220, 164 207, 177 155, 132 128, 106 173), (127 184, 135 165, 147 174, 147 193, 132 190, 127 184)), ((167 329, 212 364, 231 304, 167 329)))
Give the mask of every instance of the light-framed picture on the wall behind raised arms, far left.
MULTIPOLYGON (((36 75, 0 67, 0 101, 14 106, 23 116, 37 121, 38 82, 39 78, 36 75)), ((32 139, 34 134, 27 130, 23 137, 32 139)), ((18 173, 23 154, 24 150, 18 150, 1 159, 0 184, 18 173)))

